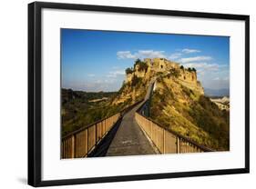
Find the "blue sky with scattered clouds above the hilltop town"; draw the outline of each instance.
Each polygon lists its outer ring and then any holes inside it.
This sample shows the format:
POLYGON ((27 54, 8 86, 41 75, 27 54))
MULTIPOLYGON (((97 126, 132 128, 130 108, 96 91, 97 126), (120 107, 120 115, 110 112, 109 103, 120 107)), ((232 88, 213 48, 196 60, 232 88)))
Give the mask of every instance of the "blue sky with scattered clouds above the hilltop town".
POLYGON ((230 38, 61 29, 62 87, 118 91, 137 58, 195 67, 203 87, 230 87, 230 38))

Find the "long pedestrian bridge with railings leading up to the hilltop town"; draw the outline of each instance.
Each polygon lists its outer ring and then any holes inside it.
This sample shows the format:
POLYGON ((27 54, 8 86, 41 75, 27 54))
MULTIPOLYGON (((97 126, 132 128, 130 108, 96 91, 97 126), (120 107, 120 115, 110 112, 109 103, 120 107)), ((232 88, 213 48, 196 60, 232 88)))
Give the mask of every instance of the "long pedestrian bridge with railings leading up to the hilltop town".
POLYGON ((150 119, 155 81, 156 78, 150 81, 143 101, 64 136, 61 158, 211 152, 150 119))

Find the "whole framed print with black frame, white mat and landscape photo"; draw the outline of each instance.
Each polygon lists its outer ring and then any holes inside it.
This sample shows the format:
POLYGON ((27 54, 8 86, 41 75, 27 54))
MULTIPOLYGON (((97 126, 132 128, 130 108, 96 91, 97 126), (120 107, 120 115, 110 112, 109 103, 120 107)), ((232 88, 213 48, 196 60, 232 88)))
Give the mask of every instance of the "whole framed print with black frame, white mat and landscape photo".
POLYGON ((249 173, 249 15, 28 5, 28 184, 249 173))

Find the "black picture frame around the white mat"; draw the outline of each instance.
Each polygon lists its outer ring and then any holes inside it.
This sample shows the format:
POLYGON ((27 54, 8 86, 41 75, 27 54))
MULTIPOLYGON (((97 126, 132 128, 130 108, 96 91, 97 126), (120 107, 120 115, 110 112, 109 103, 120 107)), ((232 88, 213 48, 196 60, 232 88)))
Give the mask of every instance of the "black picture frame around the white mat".
POLYGON ((133 180, 176 178, 215 174, 245 174, 250 172, 250 16, 198 13, 146 8, 101 5, 75 5, 35 2, 28 5, 28 184, 33 186, 93 184, 133 180), (42 9, 67 9, 80 11, 110 12, 119 14, 175 15, 183 17, 240 20, 245 22, 245 167, 214 171, 192 171, 166 174, 118 175, 109 177, 77 178, 66 180, 42 180, 42 78, 41 78, 41 24, 42 9))

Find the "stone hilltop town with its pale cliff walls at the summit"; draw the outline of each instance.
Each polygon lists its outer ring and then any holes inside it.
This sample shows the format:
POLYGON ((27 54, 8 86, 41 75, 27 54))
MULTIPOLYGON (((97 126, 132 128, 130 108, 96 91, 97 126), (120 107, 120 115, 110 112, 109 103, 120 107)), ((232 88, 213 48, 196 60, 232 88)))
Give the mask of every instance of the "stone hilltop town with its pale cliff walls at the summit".
MULTIPOLYGON (((143 61, 136 60, 133 67, 126 69, 126 79, 121 88, 122 93, 115 99, 114 104, 123 103, 130 97, 132 102, 137 101, 144 95, 149 80, 159 75, 167 75, 170 80, 175 79, 180 85, 184 85, 199 94, 204 94, 203 87, 197 79, 195 68, 185 68, 183 65, 166 58, 145 58, 143 61), (140 85, 137 85, 136 88, 129 87, 137 83, 140 85)), ((158 87, 158 83, 155 87, 158 87)))

